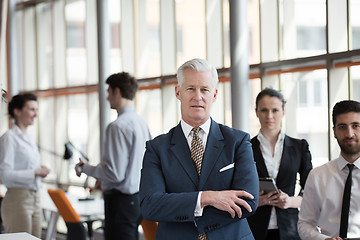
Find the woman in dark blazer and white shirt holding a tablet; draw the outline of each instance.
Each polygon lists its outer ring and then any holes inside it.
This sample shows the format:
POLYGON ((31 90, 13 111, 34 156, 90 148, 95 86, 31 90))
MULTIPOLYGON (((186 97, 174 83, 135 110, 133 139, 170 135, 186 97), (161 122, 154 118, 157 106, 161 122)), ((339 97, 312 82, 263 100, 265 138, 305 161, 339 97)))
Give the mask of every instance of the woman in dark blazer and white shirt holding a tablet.
POLYGON ((256 97, 256 116, 260 131, 251 139, 259 178, 273 178, 279 190, 265 193, 260 189, 259 206, 248 222, 256 240, 293 240, 297 232, 298 208, 302 189, 295 195, 297 174, 305 186, 312 169, 311 154, 306 140, 287 136, 281 130, 285 114, 283 95, 271 88, 256 97))

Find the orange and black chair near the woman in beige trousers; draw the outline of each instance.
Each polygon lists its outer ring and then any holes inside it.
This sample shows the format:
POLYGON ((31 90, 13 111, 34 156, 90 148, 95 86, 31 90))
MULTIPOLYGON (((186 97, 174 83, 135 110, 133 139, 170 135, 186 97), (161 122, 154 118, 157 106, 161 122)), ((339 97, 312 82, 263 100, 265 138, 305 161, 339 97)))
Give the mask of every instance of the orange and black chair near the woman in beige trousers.
POLYGON ((48 189, 48 193, 64 219, 68 229, 67 240, 86 240, 86 230, 79 214, 71 205, 63 190, 48 189))

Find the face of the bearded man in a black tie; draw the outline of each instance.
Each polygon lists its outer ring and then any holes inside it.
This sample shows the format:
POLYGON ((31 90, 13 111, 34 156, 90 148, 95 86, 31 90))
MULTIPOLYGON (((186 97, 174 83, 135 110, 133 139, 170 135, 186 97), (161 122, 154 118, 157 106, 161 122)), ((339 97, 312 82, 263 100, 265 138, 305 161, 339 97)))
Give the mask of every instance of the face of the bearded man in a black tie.
POLYGON ((334 135, 346 160, 360 157, 360 113, 349 112, 336 117, 334 135))

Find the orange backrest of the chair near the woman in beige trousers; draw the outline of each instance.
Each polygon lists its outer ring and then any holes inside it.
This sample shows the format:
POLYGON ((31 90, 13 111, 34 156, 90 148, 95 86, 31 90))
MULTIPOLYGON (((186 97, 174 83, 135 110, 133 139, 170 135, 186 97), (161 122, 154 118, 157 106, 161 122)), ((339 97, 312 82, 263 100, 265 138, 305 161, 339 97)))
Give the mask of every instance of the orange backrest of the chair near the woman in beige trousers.
POLYGON ((48 189, 48 193, 65 222, 77 223, 81 221, 79 214, 75 211, 63 190, 48 189))

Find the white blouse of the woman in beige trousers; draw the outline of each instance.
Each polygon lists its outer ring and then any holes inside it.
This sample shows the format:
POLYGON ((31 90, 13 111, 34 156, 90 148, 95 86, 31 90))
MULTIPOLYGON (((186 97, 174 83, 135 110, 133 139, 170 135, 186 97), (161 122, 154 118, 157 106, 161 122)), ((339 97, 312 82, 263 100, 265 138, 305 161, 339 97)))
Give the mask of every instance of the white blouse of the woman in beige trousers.
POLYGON ((38 168, 40 154, 34 140, 13 124, 0 138, 1 181, 7 188, 39 190, 41 177, 35 177, 38 168))

